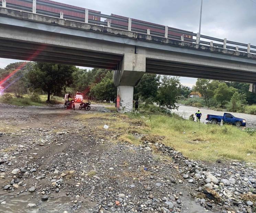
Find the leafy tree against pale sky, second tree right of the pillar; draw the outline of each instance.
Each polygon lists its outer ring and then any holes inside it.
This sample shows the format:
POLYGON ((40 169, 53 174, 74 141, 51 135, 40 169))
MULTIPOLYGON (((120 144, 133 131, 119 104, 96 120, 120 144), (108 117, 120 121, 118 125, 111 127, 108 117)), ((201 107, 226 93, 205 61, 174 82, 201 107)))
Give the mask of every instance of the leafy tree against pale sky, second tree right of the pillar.
POLYGON ((163 76, 157 91, 157 103, 160 107, 168 109, 178 109, 175 102, 180 91, 180 80, 178 77, 163 76))

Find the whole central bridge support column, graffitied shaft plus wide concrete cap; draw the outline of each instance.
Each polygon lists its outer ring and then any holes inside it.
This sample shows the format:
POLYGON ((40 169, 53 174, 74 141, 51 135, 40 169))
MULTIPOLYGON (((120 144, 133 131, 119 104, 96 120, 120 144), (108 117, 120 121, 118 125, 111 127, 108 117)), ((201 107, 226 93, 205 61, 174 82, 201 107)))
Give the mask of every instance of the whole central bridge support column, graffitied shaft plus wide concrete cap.
POLYGON ((133 87, 138 84, 146 72, 146 55, 124 54, 119 70, 113 72, 113 81, 117 86, 116 110, 120 113, 133 110, 133 87))

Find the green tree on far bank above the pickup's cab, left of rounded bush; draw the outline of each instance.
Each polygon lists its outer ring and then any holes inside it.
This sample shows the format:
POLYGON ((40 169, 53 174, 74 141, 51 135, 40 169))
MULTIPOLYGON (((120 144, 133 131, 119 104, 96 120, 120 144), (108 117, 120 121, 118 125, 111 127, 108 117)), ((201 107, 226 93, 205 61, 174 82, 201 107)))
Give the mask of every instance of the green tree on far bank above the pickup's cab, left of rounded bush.
POLYGON ((220 83, 218 88, 214 91, 214 98, 223 105, 224 101, 230 101, 236 91, 237 89, 234 87, 228 87, 226 83, 220 83))

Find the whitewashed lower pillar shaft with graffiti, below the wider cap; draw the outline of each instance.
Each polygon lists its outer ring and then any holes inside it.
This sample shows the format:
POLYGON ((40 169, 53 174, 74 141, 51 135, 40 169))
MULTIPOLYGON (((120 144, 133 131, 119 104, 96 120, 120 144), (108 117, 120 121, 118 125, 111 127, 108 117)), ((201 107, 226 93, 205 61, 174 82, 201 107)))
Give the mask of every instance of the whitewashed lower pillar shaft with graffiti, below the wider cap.
POLYGON ((117 87, 116 110, 121 113, 132 112, 133 86, 117 87))

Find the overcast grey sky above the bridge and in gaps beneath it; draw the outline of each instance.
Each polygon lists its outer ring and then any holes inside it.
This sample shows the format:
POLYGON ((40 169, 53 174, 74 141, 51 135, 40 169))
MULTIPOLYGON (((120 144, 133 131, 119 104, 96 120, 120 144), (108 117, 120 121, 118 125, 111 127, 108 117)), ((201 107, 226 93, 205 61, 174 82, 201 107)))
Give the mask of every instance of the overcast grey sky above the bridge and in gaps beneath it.
MULTIPOLYGON (((56 0, 198 32, 201 0, 56 0)), ((203 0, 201 34, 256 45, 256 0, 203 0)), ((0 67, 16 60, 0 59, 0 67)), ((183 85, 196 79, 181 77, 183 85)))

